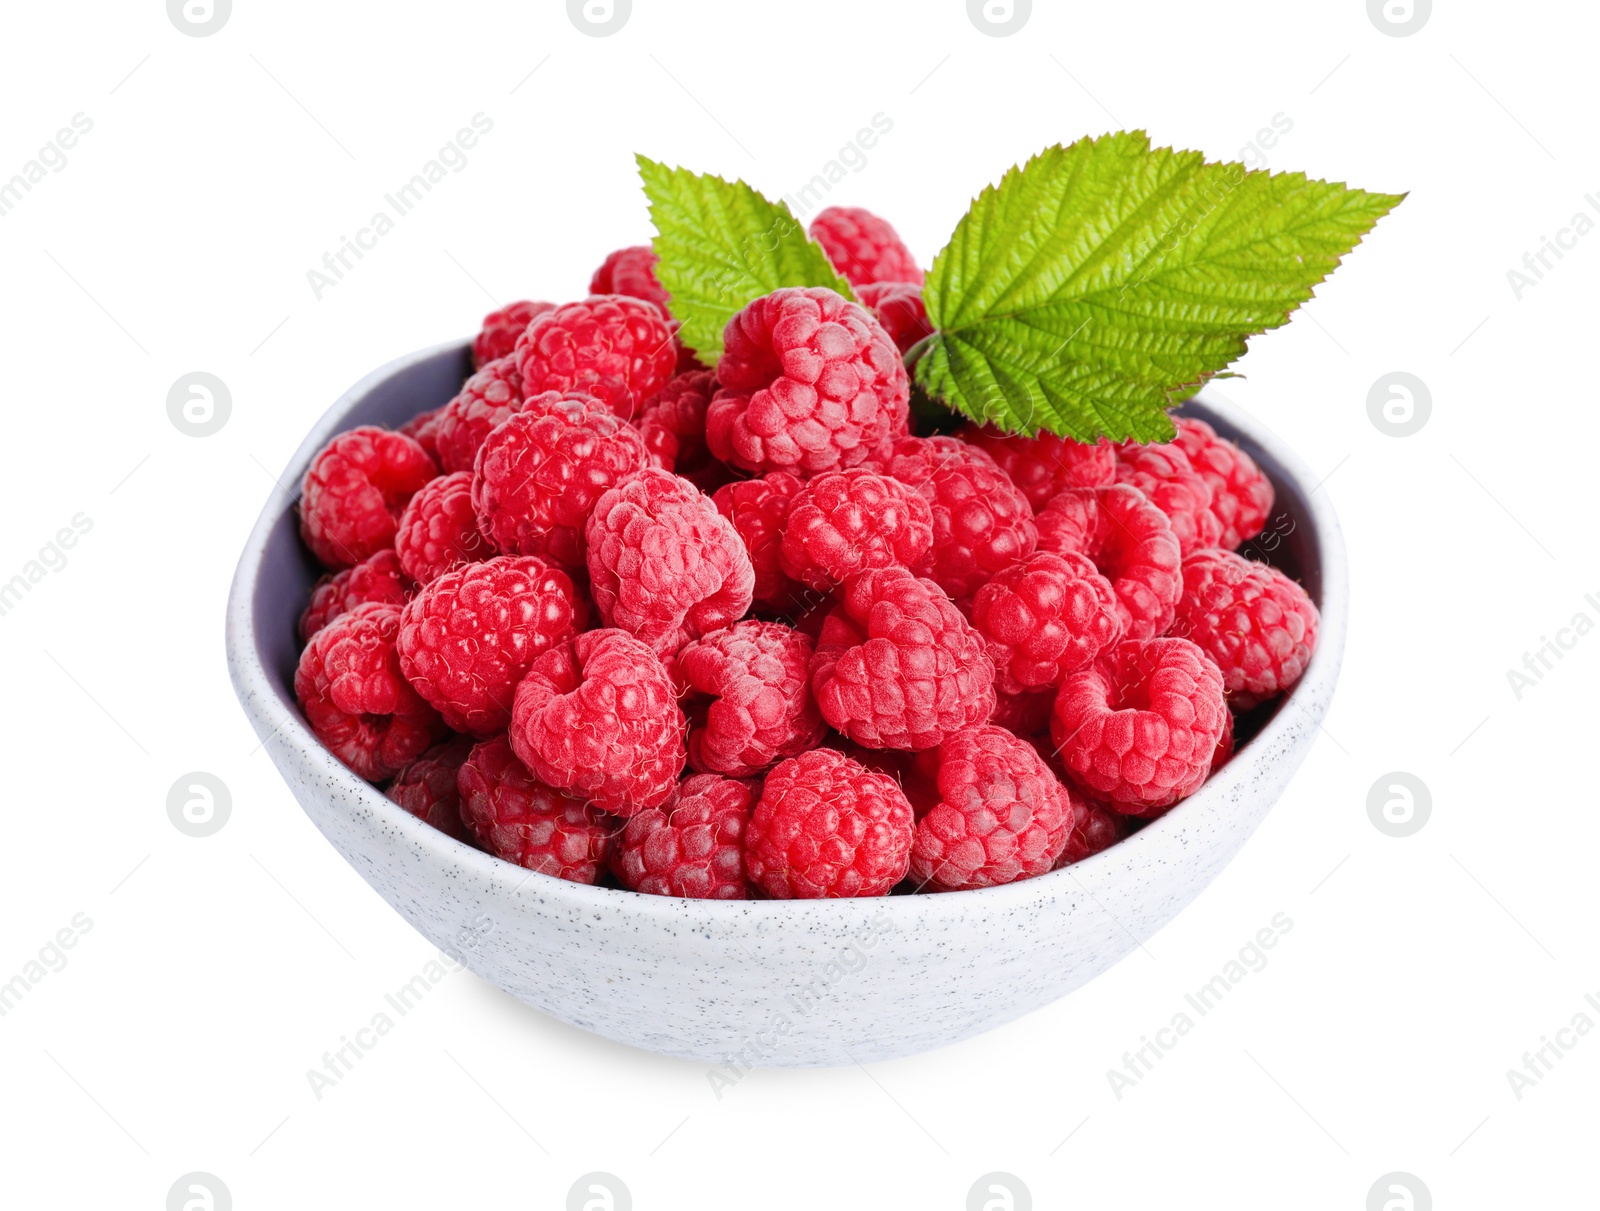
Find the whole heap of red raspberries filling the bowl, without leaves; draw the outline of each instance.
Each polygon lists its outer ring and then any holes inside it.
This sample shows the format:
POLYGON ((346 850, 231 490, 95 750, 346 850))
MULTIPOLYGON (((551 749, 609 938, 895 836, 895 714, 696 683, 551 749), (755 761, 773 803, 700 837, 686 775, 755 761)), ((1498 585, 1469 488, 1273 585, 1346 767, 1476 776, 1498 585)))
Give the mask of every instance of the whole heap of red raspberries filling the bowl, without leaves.
POLYGON ((1317 641, 1235 554, 1267 477, 1187 418, 914 434, 922 270, 862 210, 811 235, 861 304, 778 290, 707 368, 622 248, 312 459, 294 693, 344 765, 530 870, 784 899, 1043 875, 1229 760, 1317 641))

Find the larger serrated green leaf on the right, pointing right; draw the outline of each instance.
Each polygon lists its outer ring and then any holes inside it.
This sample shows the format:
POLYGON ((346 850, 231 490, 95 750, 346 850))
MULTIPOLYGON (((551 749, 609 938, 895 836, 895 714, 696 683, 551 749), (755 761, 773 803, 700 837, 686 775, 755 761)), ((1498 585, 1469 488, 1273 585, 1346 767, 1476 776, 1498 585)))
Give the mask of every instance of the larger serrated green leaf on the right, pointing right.
POLYGON ((1150 149, 1050 147, 989 186, 928 272, 917 381, 1013 432, 1171 437, 1166 408, 1285 323, 1405 195, 1150 149))

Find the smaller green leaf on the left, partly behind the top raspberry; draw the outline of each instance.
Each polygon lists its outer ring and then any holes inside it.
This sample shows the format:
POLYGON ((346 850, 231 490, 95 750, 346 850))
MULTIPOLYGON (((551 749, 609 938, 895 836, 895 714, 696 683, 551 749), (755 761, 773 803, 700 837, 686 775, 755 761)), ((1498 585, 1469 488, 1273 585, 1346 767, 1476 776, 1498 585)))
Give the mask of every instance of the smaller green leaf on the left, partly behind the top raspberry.
POLYGON ((702 362, 722 355, 722 330, 734 312, 781 286, 827 286, 854 299, 782 202, 742 181, 635 158, 658 232, 656 278, 672 296, 672 318, 683 325, 678 339, 702 362))

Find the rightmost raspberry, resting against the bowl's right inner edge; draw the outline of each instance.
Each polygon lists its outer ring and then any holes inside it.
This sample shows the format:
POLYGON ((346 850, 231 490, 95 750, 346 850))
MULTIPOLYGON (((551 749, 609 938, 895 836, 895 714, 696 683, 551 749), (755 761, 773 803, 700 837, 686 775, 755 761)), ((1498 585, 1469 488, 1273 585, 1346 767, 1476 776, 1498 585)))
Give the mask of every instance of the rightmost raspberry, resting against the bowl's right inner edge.
POLYGON ((1171 633, 1194 640, 1216 661, 1237 710, 1293 688, 1317 648, 1317 625, 1310 597, 1277 568, 1221 549, 1184 560, 1184 595, 1171 633))

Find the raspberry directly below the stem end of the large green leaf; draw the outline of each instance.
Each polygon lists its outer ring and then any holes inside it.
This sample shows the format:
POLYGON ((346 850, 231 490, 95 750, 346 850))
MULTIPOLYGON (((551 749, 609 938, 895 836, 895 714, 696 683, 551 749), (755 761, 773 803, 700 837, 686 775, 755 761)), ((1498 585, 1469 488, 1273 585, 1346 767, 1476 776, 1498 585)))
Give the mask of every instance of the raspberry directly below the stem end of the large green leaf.
POLYGON ((960 602, 1034 554, 1034 510, 995 464, 954 437, 902 437, 885 470, 933 506, 933 552, 915 568, 960 602))

